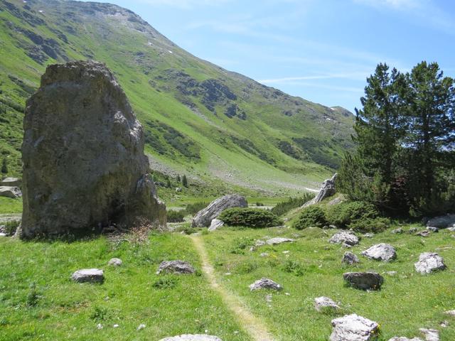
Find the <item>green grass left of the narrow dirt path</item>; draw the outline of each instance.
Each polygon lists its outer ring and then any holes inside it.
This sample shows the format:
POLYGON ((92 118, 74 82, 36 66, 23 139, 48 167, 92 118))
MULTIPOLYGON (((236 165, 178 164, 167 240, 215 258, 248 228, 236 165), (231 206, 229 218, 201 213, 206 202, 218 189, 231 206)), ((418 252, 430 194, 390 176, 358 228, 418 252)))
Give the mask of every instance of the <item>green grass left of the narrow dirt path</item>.
POLYGON ((0 249, 0 340, 159 340, 205 330, 250 340, 203 276, 155 274, 168 259, 200 271, 187 237, 152 235, 148 244, 119 247, 104 237, 70 244, 3 238, 0 249), (122 266, 107 266, 114 256, 122 266), (70 281, 73 271, 92 267, 105 269, 105 283, 70 281), (140 324, 146 328, 138 331, 140 324))

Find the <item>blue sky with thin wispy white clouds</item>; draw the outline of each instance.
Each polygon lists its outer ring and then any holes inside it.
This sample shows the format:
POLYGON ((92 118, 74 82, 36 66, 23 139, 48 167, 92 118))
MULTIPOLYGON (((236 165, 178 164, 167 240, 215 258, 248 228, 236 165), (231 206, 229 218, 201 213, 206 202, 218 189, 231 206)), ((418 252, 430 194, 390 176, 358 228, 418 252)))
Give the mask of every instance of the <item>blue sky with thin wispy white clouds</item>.
POLYGON ((110 0, 193 55, 328 106, 360 107, 380 62, 455 75, 452 0, 110 0))

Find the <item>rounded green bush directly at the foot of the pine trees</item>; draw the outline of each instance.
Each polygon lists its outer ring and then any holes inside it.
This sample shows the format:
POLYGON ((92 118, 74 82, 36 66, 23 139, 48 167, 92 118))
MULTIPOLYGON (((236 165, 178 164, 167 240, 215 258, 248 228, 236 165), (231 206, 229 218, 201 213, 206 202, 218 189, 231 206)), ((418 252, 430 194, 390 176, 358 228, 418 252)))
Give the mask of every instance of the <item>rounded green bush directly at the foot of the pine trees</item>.
POLYGON ((375 205, 363 201, 348 201, 333 205, 327 210, 327 220, 340 229, 346 229, 359 220, 372 220, 380 217, 375 205))

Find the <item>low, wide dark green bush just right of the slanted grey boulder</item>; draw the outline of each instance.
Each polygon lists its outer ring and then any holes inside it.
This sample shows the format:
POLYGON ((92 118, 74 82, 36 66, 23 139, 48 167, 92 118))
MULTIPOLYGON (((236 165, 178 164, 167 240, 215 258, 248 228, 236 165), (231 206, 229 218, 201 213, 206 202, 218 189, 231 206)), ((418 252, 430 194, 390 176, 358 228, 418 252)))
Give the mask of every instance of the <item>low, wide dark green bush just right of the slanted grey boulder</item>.
POLYGON ((272 227, 282 224, 279 217, 269 210, 248 207, 228 208, 218 216, 218 219, 230 226, 272 227))

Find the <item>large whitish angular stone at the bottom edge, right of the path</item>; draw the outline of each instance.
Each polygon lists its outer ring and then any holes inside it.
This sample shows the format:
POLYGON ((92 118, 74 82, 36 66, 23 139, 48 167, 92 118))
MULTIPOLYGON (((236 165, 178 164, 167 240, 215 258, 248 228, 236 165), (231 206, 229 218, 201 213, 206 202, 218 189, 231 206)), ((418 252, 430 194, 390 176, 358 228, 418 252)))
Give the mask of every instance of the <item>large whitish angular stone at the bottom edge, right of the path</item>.
POLYGON ((376 340, 379 325, 359 315, 346 315, 332 320, 330 341, 372 341, 376 340))

